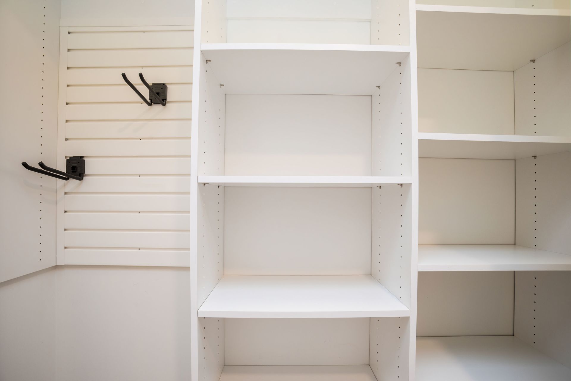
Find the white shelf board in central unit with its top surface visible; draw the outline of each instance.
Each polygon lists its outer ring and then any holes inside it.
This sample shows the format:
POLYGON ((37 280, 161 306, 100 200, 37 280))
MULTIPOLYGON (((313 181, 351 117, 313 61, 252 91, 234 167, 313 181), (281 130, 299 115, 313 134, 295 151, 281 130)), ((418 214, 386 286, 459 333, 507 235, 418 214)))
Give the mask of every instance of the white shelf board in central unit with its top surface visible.
POLYGON ((371 275, 224 275, 200 318, 384 318, 409 309, 371 275))

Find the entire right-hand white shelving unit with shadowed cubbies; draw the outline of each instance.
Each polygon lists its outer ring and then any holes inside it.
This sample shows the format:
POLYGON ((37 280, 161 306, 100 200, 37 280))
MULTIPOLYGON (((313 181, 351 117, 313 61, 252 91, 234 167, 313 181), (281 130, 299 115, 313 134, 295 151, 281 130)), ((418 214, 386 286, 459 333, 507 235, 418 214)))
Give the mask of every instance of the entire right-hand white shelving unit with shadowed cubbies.
POLYGON ((569 9, 444 2, 416 6, 416 379, 567 380, 569 9))

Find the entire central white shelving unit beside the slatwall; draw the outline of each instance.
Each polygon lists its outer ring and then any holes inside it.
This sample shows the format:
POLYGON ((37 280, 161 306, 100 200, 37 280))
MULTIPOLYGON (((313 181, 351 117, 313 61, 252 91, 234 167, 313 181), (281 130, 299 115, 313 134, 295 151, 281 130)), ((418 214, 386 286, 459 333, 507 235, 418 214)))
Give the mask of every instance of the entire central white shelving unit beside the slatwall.
POLYGON ((197 1, 193 381, 413 378, 414 20, 197 1))

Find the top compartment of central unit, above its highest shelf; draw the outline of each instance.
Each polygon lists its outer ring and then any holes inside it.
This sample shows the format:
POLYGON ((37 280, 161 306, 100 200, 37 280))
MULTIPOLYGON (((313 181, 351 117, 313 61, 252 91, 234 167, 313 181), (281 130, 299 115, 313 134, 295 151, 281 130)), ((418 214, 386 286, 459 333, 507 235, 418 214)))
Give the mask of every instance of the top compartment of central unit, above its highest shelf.
POLYGON ((203 43, 409 45, 408 0, 204 0, 203 43))

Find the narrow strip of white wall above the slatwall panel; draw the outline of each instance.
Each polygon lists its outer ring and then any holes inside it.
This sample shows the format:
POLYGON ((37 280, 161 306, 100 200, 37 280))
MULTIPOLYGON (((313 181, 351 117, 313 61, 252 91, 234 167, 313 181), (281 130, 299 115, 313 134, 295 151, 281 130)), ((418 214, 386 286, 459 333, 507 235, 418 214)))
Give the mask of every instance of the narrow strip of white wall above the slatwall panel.
POLYGON ((62 18, 194 17, 191 0, 62 0, 62 18))

